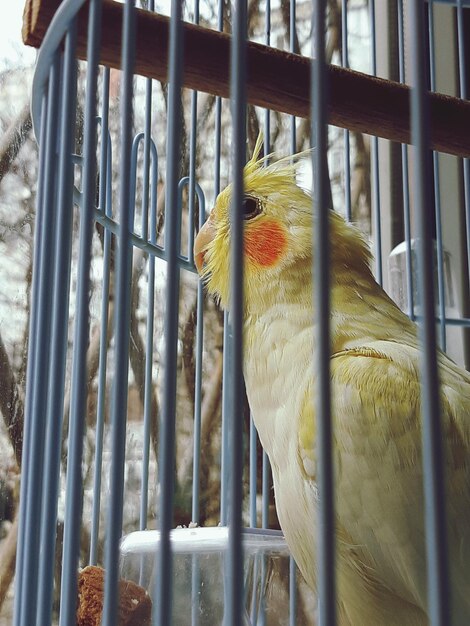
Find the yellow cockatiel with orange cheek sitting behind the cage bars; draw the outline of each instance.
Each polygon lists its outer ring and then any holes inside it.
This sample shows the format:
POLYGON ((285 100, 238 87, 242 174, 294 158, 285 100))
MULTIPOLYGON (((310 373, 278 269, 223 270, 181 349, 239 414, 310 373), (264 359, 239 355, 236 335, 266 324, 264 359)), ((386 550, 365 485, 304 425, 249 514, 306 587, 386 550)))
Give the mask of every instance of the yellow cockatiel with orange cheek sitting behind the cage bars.
MULTIPOLYGON (((312 199, 296 164, 244 170, 244 376, 292 555, 316 588, 312 199)), ((209 293, 229 302, 231 187, 195 241, 209 293)), ((375 282, 360 232, 331 236, 331 393, 340 626, 427 626, 419 343, 375 282)), ((454 626, 470 624, 470 375, 438 353, 454 626)))

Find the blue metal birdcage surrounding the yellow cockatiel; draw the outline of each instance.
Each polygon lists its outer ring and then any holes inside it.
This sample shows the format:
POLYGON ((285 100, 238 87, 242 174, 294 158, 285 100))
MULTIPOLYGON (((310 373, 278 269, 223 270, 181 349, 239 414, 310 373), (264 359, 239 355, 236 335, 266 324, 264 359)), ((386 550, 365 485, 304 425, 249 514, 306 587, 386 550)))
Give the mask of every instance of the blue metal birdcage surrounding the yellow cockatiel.
POLYGON ((15 626, 341 623, 330 209, 421 329, 427 611, 451 623, 436 349, 468 368, 466 4, 27 2, 40 163, 15 626), (242 376, 237 207, 259 133, 265 155, 307 150, 314 196, 316 594, 242 376), (230 314, 193 252, 228 183, 230 314))

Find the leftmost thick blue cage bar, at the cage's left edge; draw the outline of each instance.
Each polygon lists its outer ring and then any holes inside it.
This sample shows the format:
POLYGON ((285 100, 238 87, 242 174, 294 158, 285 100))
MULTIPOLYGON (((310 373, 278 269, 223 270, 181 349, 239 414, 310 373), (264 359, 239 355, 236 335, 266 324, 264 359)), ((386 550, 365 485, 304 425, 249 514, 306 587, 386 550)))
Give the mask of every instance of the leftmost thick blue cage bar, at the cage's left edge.
POLYGON ((31 414, 32 420, 31 440, 28 447, 28 482, 27 482, 27 508, 25 509, 25 535, 24 556, 22 574, 22 592, 24 606, 21 610, 21 626, 31 626, 36 621, 38 591, 40 589, 38 566, 40 554, 40 523, 41 520, 41 492, 44 485, 44 444, 46 428, 46 411, 48 405, 48 368, 50 363, 50 337, 52 316, 52 281, 56 259, 53 254, 54 237, 56 229, 56 181, 55 167, 57 163, 57 116, 59 111, 59 81, 60 81, 60 57, 57 53, 49 74, 48 85, 48 108, 46 132, 42 136, 45 143, 45 168, 44 168, 44 213, 43 219, 47 228, 43 230, 42 237, 38 241, 41 246, 40 263, 38 268, 38 318, 37 318, 37 344, 34 363, 35 380, 33 384, 31 414))

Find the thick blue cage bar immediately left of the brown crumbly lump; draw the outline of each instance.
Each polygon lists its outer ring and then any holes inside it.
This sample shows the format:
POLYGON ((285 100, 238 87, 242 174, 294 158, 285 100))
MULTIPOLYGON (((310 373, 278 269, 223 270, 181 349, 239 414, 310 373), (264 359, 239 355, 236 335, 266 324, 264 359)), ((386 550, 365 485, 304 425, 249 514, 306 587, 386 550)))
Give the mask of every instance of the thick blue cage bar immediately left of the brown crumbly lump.
POLYGON ((83 205, 80 215, 77 304, 70 398, 60 626, 68 626, 68 624, 73 623, 77 603, 77 565, 80 552, 82 519, 82 454, 87 404, 86 356, 90 327, 88 298, 90 293, 93 209, 96 192, 95 111, 100 32, 101 2, 92 0, 89 7, 88 22, 87 94, 83 147, 83 205))

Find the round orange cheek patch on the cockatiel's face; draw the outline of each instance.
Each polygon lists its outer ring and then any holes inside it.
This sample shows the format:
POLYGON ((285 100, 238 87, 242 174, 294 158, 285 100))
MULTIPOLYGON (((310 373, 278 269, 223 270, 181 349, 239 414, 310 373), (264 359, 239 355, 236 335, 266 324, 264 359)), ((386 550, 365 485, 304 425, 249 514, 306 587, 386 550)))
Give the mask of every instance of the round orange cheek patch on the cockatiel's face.
POLYGON ((264 219, 245 230, 245 254, 257 265, 272 267, 287 247, 287 237, 275 220, 264 219))

